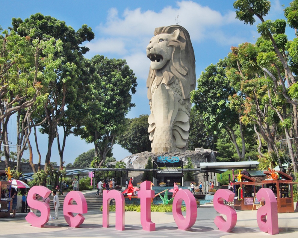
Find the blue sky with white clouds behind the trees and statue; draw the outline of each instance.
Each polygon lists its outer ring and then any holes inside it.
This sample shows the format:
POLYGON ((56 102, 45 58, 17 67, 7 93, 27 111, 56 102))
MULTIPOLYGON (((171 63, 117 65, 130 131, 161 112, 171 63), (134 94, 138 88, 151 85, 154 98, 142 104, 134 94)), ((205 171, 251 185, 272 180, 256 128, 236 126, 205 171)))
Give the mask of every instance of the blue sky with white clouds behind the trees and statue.
MULTIPOLYGON (((78 30, 83 24, 92 28, 94 40, 84 43, 90 51, 86 58, 96 54, 108 58, 125 59, 137 77, 137 92, 132 97, 135 107, 128 113, 128 118, 135 118, 142 114, 150 114, 146 79, 149 72, 150 60, 146 57, 146 46, 156 27, 179 24, 187 29, 193 45, 196 58, 196 78, 211 63, 216 64, 219 59, 227 56, 231 46, 241 43, 255 43, 259 37, 256 25, 245 25, 235 19, 235 9, 232 0, 198 0, 198 1, 23 1, 0 0, 0 25, 7 29, 11 26, 11 19, 26 19, 35 13, 42 13, 65 21, 66 25, 78 30)), ((284 19, 283 9, 291 1, 272 0, 271 9, 265 20, 284 19)), ((287 28, 289 40, 294 38, 294 30, 287 28)), ((9 141, 12 145, 16 141, 16 125, 11 123, 9 141)), ((59 131, 63 133, 63 131, 59 131)), ((61 134, 62 136, 62 134, 61 134)), ((38 134, 39 149, 44 163, 47 152, 47 135, 38 134)), ((32 142, 34 135, 31 135, 32 142)), ((31 144, 33 144, 31 142, 31 144)), ((75 158, 90 149, 93 144, 87 144, 80 137, 69 136, 63 160, 73 163, 75 158)), ((11 147, 13 151, 13 147, 11 147)), ((33 148, 33 162, 37 163, 37 153, 33 148)), ((28 152, 27 152, 28 153, 28 152)), ((114 145, 114 157, 117 160, 130 155, 119 145, 114 145)), ((29 158, 28 154, 24 154, 29 158)), ((59 164, 57 141, 52 146, 51 161, 59 164)))

